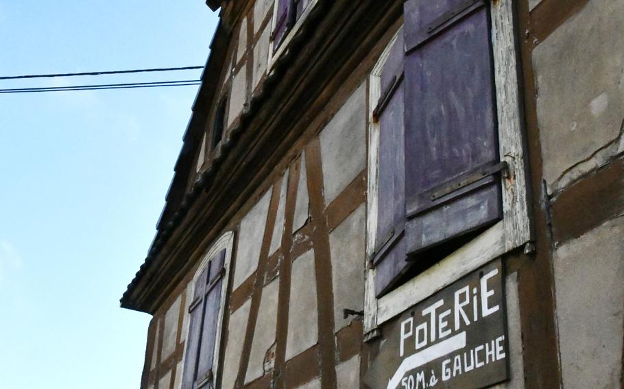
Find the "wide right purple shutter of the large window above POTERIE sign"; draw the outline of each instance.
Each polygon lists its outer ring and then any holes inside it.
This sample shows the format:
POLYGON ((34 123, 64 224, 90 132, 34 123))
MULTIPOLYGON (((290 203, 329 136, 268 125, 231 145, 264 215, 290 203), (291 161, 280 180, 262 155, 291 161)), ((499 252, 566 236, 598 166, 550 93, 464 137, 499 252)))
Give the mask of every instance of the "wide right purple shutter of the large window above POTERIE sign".
POLYGON ((418 253, 502 218, 501 165, 487 3, 404 7, 405 236, 418 253))

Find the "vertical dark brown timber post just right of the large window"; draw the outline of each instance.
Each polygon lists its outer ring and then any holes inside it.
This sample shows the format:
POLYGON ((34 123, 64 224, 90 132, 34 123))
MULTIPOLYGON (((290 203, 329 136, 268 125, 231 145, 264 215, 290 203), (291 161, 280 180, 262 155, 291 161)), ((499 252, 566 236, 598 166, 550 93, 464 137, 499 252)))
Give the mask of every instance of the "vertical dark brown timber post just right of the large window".
MULTIPOLYGON (((586 0, 583 0, 586 1, 586 0)), ((564 11, 568 4, 577 1, 543 1, 542 5, 533 10, 538 12, 545 4, 552 4, 564 11), (565 3, 564 6, 562 6, 565 3)), ((557 318, 555 277, 553 269, 553 247, 551 240, 550 215, 547 206, 547 191, 542 187, 543 164, 540 128, 537 113, 538 80, 533 70, 532 50, 535 45, 531 32, 536 27, 533 17, 529 15, 527 1, 512 1, 514 16, 518 22, 518 45, 521 55, 516 60, 522 66, 520 79, 523 124, 527 136, 525 157, 530 166, 527 171, 528 185, 531 186, 531 224, 535 240, 535 255, 531 261, 525 261, 518 271, 518 299, 520 305, 520 331, 522 333, 522 353, 524 386, 526 388, 561 388, 562 369, 560 365, 559 334, 557 318), (529 32, 527 36, 526 33, 529 32)), ((549 27, 560 25, 550 19, 549 27)))

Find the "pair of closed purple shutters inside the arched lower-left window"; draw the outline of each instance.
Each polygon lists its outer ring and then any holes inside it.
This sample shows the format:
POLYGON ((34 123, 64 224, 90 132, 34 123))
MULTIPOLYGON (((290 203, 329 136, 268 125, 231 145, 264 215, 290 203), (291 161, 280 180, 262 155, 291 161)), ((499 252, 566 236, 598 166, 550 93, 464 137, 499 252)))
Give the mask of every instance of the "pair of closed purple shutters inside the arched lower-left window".
POLYGON ((200 273, 189 308, 191 323, 184 360, 183 389, 212 388, 213 361, 226 251, 221 250, 200 273))

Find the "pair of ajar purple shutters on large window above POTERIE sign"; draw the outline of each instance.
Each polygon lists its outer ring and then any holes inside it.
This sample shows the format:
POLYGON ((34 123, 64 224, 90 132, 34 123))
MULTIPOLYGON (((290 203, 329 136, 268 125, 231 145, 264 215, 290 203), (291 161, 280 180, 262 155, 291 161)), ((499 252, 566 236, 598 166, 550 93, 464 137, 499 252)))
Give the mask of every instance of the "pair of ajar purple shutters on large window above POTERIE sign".
POLYGON ((374 110, 377 294, 503 218, 488 8, 483 1, 405 7, 374 110))

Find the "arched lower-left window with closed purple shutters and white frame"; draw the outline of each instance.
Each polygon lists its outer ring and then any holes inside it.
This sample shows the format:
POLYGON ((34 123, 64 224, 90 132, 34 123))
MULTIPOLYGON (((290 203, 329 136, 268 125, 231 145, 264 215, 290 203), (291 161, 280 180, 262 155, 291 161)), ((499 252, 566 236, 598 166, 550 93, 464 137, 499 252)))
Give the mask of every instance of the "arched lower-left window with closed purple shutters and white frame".
POLYGON ((215 388, 233 238, 229 232, 217 240, 189 284, 193 300, 189 305, 182 389, 215 388))

